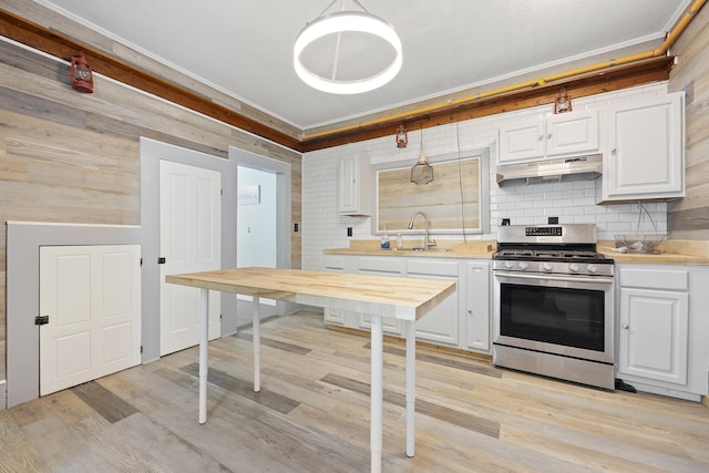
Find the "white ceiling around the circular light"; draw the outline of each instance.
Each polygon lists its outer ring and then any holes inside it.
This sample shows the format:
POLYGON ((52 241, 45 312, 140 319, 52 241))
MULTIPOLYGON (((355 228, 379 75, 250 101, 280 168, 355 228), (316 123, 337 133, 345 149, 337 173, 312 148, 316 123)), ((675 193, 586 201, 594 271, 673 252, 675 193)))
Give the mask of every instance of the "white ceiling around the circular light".
MULTIPOLYGON (((360 0, 399 33, 403 66, 389 84, 358 95, 314 90, 292 69, 296 37, 331 0, 35 1, 308 130, 649 51, 691 0, 360 0)), ((358 10, 352 0, 345 7, 358 10)), ((387 60, 371 51, 367 60, 342 55, 362 68, 387 60)), ((329 68, 332 53, 325 56, 329 68)))

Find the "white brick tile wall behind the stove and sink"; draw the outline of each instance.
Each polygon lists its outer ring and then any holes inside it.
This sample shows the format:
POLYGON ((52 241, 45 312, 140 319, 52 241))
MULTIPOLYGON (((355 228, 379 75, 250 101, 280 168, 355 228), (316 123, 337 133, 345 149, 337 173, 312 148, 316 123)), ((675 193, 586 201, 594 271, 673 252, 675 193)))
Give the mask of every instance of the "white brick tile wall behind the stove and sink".
MULTIPOLYGON (((626 89, 618 92, 573 100, 574 110, 603 106, 618 100, 667 92, 667 83, 626 89)), ((521 119, 537 119, 552 113, 553 105, 543 105, 517 112, 470 120, 423 130, 423 152, 427 156, 456 153, 461 150, 491 147, 490 194, 491 233, 467 236, 467 239, 496 239, 502 217, 513 225, 546 224, 547 217, 559 223, 592 223, 598 227, 599 239, 613 239, 615 234, 630 233, 638 223, 637 204, 596 205, 596 182, 580 181, 530 186, 499 187, 495 182, 497 130, 501 125, 521 119), (458 135, 458 136, 456 136, 458 135)), ((398 148, 394 130, 384 136, 362 143, 306 153, 302 156, 302 269, 325 268, 322 250, 349 246, 347 227, 352 227, 353 239, 378 239, 371 233, 370 217, 338 215, 338 158, 367 152, 372 164, 411 161, 419 154, 420 132, 409 133, 409 146, 398 148)), ((667 232, 667 204, 646 204, 660 233, 667 232)), ((645 228, 647 229, 647 228, 645 228)), ((462 235, 436 235, 436 239, 462 239, 462 235)))

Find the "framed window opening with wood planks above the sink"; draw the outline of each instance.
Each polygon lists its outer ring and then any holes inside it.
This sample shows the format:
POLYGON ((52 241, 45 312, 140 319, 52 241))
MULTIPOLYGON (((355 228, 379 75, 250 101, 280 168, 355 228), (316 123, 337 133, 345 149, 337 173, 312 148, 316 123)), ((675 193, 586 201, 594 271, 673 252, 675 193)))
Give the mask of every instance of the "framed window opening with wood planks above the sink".
POLYGON ((423 213, 431 234, 490 233, 490 148, 427 156, 433 182, 410 182, 414 161, 373 165, 374 215, 372 232, 420 234, 419 218, 409 229, 412 215, 423 213))

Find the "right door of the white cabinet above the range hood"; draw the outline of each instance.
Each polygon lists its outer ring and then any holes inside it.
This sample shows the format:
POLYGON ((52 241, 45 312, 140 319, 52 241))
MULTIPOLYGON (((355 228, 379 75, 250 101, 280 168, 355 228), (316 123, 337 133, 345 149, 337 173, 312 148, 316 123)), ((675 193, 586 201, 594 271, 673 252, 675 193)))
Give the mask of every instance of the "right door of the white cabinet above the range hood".
POLYGON ((546 155, 598 153, 598 111, 584 110, 551 115, 546 120, 546 155))

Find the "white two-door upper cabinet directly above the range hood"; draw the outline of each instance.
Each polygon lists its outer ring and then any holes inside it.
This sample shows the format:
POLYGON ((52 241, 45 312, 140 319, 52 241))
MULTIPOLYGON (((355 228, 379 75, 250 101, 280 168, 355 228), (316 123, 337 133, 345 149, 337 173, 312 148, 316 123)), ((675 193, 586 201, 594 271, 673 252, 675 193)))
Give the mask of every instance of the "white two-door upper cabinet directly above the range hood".
POLYGON ((500 128, 500 165, 554 160, 600 151, 597 110, 548 115, 500 128))

